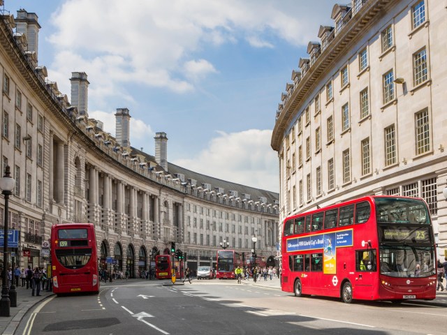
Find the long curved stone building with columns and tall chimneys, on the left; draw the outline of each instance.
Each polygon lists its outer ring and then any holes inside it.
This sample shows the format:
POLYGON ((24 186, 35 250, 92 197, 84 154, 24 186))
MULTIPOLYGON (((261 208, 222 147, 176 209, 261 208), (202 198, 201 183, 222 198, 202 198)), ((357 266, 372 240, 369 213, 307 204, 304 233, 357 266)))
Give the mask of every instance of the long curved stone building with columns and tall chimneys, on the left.
POLYGON ((224 242, 250 253, 255 235, 258 257, 272 262, 279 195, 168 163, 163 132, 154 156, 131 147, 125 107, 117 108, 117 135, 110 136, 89 118, 86 73, 72 73, 71 103, 47 78, 38 64, 40 28, 36 13, 23 9, 0 17, 0 155, 2 171, 10 166, 15 179, 8 225, 20 233, 18 265, 46 266, 51 225, 70 222, 94 223, 101 265, 110 269, 112 260, 131 277, 172 242, 195 269, 212 265, 224 242))

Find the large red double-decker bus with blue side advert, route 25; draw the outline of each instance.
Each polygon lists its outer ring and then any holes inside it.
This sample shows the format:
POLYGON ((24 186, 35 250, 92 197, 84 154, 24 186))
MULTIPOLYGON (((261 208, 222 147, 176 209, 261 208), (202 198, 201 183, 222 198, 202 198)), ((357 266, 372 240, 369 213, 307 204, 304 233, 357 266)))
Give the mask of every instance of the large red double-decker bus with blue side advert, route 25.
POLYGON ((281 288, 295 296, 434 299, 436 246, 424 200, 367 196, 285 219, 281 288))

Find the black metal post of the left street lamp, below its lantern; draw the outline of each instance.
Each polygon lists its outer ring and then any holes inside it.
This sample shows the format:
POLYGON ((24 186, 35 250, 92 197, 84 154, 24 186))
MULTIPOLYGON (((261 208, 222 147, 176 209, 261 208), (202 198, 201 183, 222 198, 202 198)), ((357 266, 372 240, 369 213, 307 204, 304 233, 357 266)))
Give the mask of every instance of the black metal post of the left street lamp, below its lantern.
MULTIPOLYGON (((9 172, 9 166, 6 167, 6 173, 9 172)), ((8 221, 9 221, 9 196, 11 191, 1 191, 5 196, 5 210, 3 220, 3 284, 1 285, 0 316, 10 316, 10 300, 8 288, 8 221)))

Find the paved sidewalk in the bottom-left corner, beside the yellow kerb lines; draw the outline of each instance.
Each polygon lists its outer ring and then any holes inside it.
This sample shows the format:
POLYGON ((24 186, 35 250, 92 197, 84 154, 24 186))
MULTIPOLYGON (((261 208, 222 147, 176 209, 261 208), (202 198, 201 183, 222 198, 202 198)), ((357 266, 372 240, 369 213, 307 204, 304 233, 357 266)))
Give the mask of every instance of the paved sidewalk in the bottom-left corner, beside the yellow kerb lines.
POLYGON ((51 297, 53 292, 41 290, 40 294, 40 297, 36 295, 33 297, 31 296, 31 288, 27 290, 26 287, 18 286, 17 307, 10 307, 10 316, 0 316, 0 334, 13 335, 27 311, 43 299, 51 297))

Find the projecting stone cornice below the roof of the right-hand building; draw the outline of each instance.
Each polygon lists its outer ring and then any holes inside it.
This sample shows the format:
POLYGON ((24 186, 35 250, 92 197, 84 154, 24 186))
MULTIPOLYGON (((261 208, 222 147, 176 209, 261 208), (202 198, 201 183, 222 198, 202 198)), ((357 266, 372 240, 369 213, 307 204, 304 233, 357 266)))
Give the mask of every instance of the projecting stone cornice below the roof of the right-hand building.
POLYGON ((390 3, 391 0, 369 0, 362 6, 361 10, 353 15, 351 20, 346 23, 344 29, 339 31, 337 36, 330 42, 328 47, 321 52, 321 55, 316 59, 316 62, 307 70, 307 73, 302 76, 300 83, 292 92, 288 101, 284 105, 274 124, 272 132, 272 140, 270 145, 274 151, 279 151, 281 142, 291 123, 291 119, 295 113, 300 109, 305 98, 312 92, 312 89, 320 84, 319 80, 325 74, 325 71, 334 64, 335 60, 345 54, 344 50, 362 31, 362 29, 369 24, 381 12, 381 10, 390 3))

